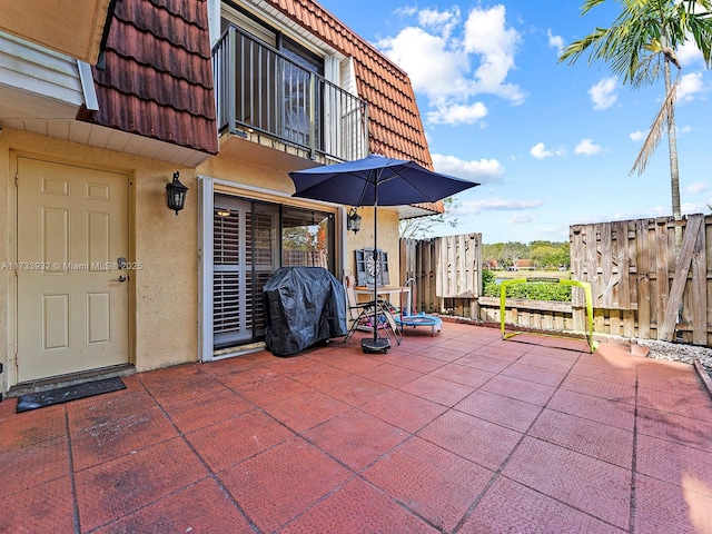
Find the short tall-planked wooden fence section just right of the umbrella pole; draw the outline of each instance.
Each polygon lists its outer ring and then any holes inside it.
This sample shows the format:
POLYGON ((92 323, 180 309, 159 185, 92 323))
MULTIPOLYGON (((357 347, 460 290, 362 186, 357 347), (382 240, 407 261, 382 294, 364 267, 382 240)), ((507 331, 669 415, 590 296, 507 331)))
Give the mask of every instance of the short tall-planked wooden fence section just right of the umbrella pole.
POLYGON ((482 234, 400 239, 400 283, 415 281, 414 309, 478 316, 482 234))

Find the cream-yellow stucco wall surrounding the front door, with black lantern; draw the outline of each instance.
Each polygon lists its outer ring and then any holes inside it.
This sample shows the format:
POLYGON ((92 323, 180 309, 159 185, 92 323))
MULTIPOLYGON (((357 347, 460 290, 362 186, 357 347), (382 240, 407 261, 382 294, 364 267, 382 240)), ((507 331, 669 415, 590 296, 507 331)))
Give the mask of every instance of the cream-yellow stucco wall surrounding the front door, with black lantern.
MULTIPOLYGON (((131 362, 138 370, 152 369, 197 359, 198 263, 197 263, 197 186, 195 169, 161 161, 102 150, 6 128, 0 135, 0 263, 14 261, 14 155, 66 165, 123 172, 129 176, 129 261, 142 263, 131 273, 132 303, 131 362), (186 208, 176 216, 166 206, 166 184, 174 171, 189 187, 186 208)), ((11 271, 0 271, 0 336, 7 340, 0 362, 0 388, 12 385, 14 334, 11 332, 11 271)), ((3 347, 4 348, 4 347, 3 347)))

